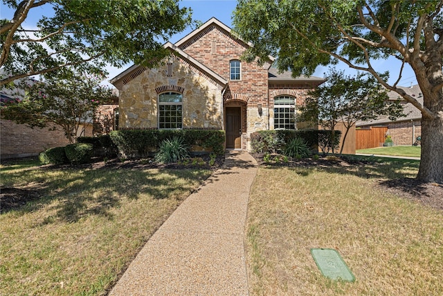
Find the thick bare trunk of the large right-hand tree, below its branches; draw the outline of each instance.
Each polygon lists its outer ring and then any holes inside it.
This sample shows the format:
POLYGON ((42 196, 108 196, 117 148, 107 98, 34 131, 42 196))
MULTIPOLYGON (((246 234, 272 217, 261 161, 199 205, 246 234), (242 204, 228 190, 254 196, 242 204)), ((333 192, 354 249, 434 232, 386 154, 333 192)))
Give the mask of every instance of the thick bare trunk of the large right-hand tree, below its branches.
POLYGON ((417 179, 443 184, 443 112, 422 119, 422 159, 417 179))

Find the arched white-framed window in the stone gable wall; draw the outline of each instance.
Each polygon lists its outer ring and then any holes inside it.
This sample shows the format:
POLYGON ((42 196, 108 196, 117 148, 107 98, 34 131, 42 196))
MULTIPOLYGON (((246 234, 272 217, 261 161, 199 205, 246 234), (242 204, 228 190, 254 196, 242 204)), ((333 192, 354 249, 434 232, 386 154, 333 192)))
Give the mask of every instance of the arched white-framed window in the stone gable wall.
POLYGON ((177 92, 159 94, 159 128, 182 128, 183 96, 177 92))

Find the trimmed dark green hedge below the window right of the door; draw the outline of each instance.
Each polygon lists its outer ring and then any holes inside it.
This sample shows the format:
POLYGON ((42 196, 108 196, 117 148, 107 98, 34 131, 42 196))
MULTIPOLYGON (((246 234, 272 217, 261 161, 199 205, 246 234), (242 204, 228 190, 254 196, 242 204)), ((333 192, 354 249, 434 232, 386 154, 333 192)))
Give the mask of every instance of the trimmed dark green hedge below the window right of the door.
MULTIPOLYGON (((335 143, 340 143, 341 132, 336 130, 334 134, 335 143)), ((323 150, 332 145, 330 130, 260 130, 251 134, 251 149, 255 153, 282 153, 287 143, 297 137, 303 139, 313 151, 318 151, 318 147, 323 150)))

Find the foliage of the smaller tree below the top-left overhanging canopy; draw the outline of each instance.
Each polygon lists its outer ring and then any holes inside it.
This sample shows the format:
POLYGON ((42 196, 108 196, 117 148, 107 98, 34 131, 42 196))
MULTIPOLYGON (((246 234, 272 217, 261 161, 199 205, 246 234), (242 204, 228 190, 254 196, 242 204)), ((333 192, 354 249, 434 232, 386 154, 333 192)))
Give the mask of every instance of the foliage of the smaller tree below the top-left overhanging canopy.
POLYGON ((71 75, 69 79, 48 78, 22 85, 26 96, 19 103, 2 107, 2 117, 31 127, 55 123, 73 143, 80 124, 89 123, 96 107, 111 97, 111 89, 100 85, 101 78, 71 75))

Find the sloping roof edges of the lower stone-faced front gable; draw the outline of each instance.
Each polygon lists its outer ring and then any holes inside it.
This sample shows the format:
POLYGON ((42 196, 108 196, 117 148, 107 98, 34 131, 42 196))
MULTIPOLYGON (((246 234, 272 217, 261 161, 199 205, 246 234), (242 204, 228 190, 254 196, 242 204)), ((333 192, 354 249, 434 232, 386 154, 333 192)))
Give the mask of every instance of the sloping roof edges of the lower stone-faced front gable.
MULTIPOLYGON (((201 71, 206 73, 210 78, 213 78, 215 81, 217 81, 217 83, 219 83, 220 85, 225 86, 228 83, 228 80, 219 76, 217 73, 215 73, 214 71, 212 71, 211 69, 206 67, 204 64, 201 64, 201 62, 199 62, 198 60, 195 60, 195 58, 192 58, 190 55, 188 55, 188 53, 185 53, 184 51, 179 49, 179 47, 172 44, 171 42, 166 42, 163 45, 163 47, 165 49, 170 49, 170 51, 172 51, 176 55, 179 55, 181 58, 183 58, 183 60, 186 60, 190 64, 193 64, 195 67, 197 67, 198 69, 200 69, 201 71)), ((119 84, 119 82, 121 82, 123 79, 129 78, 129 80, 132 80, 136 76, 143 73, 146 69, 148 69, 148 68, 142 67, 138 64, 134 64, 131 67, 129 67, 128 69, 126 69, 125 71, 123 71, 122 73, 118 74, 118 76, 109 80, 109 82, 111 82, 113 85, 117 86, 119 84), (130 76, 133 76, 133 77, 130 77, 130 76)), ((127 82, 129 82, 129 81, 127 81, 127 82)), ((123 84, 126 84, 127 82, 124 82, 123 84)))

